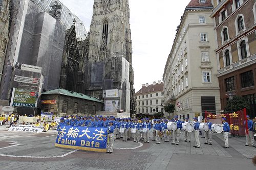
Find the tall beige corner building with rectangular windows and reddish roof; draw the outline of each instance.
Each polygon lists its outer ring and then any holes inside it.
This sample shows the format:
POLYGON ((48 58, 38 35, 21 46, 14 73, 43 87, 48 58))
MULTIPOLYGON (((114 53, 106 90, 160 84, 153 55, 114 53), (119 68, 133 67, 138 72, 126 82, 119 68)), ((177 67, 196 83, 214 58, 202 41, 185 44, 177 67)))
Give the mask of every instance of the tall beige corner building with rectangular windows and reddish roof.
POLYGON ((220 113, 213 9, 209 0, 190 1, 165 65, 164 104, 174 103, 181 119, 220 113))

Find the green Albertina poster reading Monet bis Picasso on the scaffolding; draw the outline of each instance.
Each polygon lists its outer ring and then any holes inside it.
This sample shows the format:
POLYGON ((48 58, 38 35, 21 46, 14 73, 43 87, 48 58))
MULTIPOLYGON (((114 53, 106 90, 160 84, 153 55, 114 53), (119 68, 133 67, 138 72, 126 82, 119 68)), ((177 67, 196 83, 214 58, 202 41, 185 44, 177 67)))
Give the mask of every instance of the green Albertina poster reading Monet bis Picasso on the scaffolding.
POLYGON ((36 92, 25 89, 13 88, 11 106, 35 107, 36 92))

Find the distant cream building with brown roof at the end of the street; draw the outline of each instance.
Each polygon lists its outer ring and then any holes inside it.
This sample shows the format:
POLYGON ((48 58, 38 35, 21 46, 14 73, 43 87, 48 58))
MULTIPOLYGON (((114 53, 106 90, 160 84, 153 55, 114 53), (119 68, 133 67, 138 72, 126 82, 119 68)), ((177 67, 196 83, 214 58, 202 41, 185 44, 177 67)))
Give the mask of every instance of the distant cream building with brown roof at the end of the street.
POLYGON ((136 115, 153 117, 155 113, 163 111, 163 82, 159 80, 153 84, 142 84, 136 95, 136 115))

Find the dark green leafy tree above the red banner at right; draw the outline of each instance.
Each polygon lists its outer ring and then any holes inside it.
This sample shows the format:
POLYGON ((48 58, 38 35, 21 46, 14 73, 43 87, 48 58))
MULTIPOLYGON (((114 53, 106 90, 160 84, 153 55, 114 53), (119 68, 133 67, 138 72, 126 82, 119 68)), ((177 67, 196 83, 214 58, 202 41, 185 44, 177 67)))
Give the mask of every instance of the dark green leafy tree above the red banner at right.
POLYGON ((233 112, 237 112, 244 108, 249 109, 248 102, 241 96, 235 95, 233 96, 233 100, 228 100, 225 111, 231 113, 231 102, 232 102, 232 110, 233 112))

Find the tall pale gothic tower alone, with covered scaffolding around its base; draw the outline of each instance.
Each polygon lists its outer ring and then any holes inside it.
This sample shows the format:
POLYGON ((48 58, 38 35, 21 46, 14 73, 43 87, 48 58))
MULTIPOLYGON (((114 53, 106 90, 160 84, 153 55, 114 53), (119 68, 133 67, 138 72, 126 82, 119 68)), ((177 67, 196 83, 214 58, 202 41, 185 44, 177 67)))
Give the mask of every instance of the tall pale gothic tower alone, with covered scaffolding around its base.
POLYGON ((94 0, 90 26, 87 94, 100 100, 103 90, 118 89, 118 110, 130 113, 133 89, 132 40, 128 0, 94 0))

